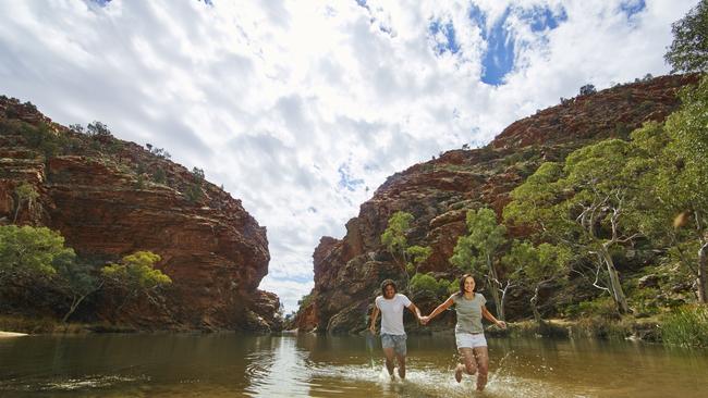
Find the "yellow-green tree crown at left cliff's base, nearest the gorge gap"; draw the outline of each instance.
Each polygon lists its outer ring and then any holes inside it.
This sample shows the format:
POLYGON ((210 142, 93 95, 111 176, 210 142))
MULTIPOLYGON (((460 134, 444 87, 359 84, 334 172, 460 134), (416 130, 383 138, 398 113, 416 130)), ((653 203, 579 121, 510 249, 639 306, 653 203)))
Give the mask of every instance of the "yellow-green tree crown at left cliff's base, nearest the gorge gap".
POLYGON ((155 270, 155 264, 160 261, 160 256, 150 251, 137 251, 125 256, 118 264, 110 264, 101 270, 107 279, 129 290, 150 290, 160 286, 170 285, 172 279, 160 270, 155 270))

